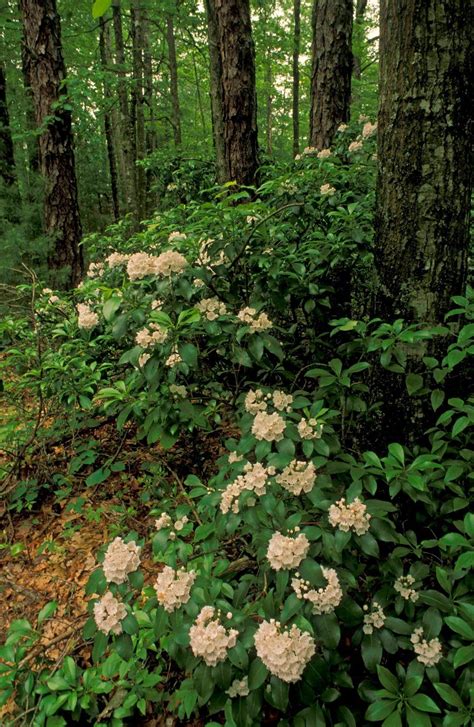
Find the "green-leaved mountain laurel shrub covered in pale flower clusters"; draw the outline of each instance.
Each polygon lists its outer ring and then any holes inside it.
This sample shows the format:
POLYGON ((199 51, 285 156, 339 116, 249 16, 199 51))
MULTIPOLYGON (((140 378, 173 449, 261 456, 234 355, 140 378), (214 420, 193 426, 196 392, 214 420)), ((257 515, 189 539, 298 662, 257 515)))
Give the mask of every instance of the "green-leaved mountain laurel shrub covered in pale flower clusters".
MULTIPOLYGON (((92 666, 67 656, 52 669, 38 655, 33 671, 25 657, 51 612, 38 628, 12 624, 2 700, 35 707, 35 725, 118 726, 150 709, 208 727, 262 715, 296 727, 471 724, 474 407, 449 391, 474 350, 474 300, 456 298, 437 328, 364 316, 367 121, 357 139, 341 129, 332 152, 306 150, 256 200, 227 187, 139 234, 118 224, 92 236, 73 298, 39 295, 50 345, 30 377, 42 396, 102 407, 143 447, 216 427, 223 442, 213 476, 177 478, 152 503, 145 539, 124 532, 98 554, 92 666), (420 347, 412 373, 407 351, 420 347), (380 366, 431 408, 410 447, 365 444, 380 366)), ((27 368, 31 335, 4 326, 4 366, 27 368)))

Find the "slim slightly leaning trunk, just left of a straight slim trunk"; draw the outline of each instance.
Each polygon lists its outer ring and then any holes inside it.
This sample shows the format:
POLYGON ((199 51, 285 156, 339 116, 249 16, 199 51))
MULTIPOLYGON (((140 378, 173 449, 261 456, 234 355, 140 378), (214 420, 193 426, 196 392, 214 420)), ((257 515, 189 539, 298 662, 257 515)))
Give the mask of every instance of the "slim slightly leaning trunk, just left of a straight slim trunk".
POLYGON ((120 143, 117 144, 118 165, 120 169, 126 210, 127 212, 132 212, 136 215, 135 155, 133 143, 134 130, 128 103, 126 61, 120 0, 113 0, 112 2, 112 17, 115 39, 115 62, 120 69, 117 81, 117 93, 120 107, 120 143))

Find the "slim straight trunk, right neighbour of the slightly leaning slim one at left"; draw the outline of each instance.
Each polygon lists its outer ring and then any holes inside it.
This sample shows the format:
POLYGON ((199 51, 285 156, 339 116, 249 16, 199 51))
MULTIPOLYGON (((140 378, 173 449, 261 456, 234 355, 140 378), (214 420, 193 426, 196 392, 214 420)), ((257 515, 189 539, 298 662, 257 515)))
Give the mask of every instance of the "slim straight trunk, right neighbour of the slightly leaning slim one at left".
MULTIPOLYGON (((132 60, 133 87, 132 109, 135 122, 135 160, 143 160, 146 155, 145 112, 143 97, 143 16, 141 0, 132 0, 132 60)), ((137 218, 143 220, 146 213, 146 177, 141 164, 135 164, 135 197, 137 218)))

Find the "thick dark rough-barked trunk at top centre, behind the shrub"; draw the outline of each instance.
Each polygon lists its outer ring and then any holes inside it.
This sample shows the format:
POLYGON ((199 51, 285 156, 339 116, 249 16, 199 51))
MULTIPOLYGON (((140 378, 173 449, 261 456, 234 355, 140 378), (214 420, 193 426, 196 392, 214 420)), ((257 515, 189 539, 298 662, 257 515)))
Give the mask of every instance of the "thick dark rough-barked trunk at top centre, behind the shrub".
POLYGON ((255 51, 249 0, 214 0, 222 68, 226 181, 257 179, 255 51))

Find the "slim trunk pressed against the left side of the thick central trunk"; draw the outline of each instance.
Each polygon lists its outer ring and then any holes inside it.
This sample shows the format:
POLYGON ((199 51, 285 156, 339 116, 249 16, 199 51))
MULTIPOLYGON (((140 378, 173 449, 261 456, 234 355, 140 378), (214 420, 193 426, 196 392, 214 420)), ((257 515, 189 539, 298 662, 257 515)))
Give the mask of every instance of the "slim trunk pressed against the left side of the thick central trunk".
POLYGON ((222 64, 219 52, 219 36, 215 0, 205 0, 207 14, 207 38, 209 43, 209 75, 211 86, 211 118, 214 149, 216 153, 217 181, 227 181, 227 163, 224 145, 224 109, 222 99, 222 64))

